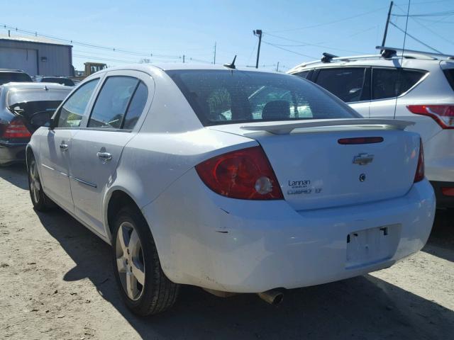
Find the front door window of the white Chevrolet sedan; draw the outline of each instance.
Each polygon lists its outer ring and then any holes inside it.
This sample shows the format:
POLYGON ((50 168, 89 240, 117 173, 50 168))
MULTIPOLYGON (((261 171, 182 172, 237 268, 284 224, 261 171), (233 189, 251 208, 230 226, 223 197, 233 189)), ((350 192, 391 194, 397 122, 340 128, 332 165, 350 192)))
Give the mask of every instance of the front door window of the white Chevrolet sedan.
POLYGON ((93 79, 85 83, 70 96, 58 113, 56 128, 77 128, 80 126, 85 109, 98 81, 99 79, 93 79))

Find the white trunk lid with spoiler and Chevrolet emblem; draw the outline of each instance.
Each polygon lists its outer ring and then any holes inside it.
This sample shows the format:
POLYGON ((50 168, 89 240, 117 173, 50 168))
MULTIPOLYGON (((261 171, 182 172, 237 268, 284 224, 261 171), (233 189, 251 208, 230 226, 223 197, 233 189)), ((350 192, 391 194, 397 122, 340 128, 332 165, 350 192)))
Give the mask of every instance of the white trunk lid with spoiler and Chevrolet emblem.
POLYGON ((348 119, 210 128, 257 140, 284 199, 295 210, 309 210, 404 196, 419 157, 419 136, 402 131, 408 125, 348 119))

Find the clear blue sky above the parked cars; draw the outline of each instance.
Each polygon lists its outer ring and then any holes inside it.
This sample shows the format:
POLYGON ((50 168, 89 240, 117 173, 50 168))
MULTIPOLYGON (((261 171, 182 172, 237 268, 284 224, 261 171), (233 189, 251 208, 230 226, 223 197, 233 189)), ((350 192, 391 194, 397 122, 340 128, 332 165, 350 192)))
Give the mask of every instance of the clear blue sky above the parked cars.
MULTIPOLYGON (((396 0, 392 22, 405 29, 408 0, 396 0)), ((0 34, 4 25, 31 30, 73 43, 73 64, 105 62, 109 66, 152 63, 231 62, 255 66, 258 37, 262 46, 259 67, 287 71, 301 62, 333 55, 375 53, 381 45, 388 0, 323 1, 23 1, 0 0, 0 34), (114 50, 115 49, 115 50, 114 50), (121 50, 121 51, 118 51, 121 50), (152 55, 152 56, 150 56, 152 55)), ((454 55, 454 0, 411 0, 407 33, 435 50, 454 55), (443 13, 450 11, 450 15, 443 13), (440 13, 442 12, 442 13, 440 13)), ((12 30, 11 35, 23 35, 12 30)), ((406 35, 406 48, 429 50, 406 35)), ((390 26, 386 45, 402 48, 404 33, 390 26)))

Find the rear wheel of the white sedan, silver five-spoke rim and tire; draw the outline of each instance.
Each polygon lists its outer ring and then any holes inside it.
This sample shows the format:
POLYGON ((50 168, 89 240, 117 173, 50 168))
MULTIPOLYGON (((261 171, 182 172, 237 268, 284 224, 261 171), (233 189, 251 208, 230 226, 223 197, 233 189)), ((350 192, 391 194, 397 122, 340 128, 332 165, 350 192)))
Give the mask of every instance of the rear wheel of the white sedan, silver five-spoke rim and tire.
POLYGON ((125 207, 118 212, 113 241, 114 275, 128 308, 146 316, 172 307, 179 285, 162 271, 155 241, 138 208, 125 207))

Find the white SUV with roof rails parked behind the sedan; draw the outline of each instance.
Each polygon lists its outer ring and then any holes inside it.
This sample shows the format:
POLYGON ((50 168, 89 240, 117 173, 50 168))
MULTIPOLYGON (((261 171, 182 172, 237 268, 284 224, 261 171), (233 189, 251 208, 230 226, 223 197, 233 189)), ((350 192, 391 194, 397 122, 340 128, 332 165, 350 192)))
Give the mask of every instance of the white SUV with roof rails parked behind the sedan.
POLYGON ((454 57, 377 47, 381 55, 299 64, 288 73, 323 87, 365 118, 397 118, 423 140, 438 208, 454 208, 454 57))

